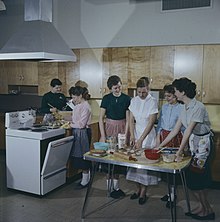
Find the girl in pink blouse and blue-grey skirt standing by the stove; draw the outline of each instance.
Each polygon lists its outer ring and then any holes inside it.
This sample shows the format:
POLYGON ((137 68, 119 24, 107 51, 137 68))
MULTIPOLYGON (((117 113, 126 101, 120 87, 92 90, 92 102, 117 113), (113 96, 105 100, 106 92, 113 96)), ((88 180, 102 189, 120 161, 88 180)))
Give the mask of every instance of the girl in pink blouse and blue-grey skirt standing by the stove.
POLYGON ((71 87, 69 94, 75 104, 71 122, 74 136, 71 151, 72 165, 74 169, 82 169, 82 180, 76 187, 82 189, 87 187, 90 180, 91 162, 83 160, 83 154, 90 150, 91 142, 91 107, 87 101, 90 95, 87 88, 81 86, 71 87))

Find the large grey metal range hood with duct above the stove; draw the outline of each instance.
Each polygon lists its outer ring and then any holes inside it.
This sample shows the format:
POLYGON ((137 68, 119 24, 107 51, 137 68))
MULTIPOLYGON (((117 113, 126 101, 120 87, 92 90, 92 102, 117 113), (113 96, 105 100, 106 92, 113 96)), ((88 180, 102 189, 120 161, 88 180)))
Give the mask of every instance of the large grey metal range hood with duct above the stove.
POLYGON ((0 50, 0 60, 76 61, 52 24, 52 0, 24 0, 24 23, 0 50))

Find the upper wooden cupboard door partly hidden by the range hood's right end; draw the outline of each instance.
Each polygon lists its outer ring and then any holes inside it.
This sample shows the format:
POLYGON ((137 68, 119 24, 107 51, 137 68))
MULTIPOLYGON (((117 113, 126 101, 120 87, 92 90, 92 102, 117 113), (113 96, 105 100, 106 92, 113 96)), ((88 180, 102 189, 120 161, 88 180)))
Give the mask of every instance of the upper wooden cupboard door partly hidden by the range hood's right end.
POLYGON ((76 55, 76 62, 65 63, 66 68, 66 92, 69 96, 70 87, 74 86, 77 81, 80 80, 80 49, 74 49, 73 52, 76 55))

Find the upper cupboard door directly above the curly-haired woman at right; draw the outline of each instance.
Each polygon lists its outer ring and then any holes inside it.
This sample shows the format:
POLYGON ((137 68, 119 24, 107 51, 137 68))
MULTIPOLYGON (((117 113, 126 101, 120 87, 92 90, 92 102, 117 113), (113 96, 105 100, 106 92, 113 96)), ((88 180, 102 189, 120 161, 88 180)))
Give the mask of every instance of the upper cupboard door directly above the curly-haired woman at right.
POLYGON ((197 99, 202 98, 203 45, 175 46, 174 79, 187 77, 197 85, 197 99))

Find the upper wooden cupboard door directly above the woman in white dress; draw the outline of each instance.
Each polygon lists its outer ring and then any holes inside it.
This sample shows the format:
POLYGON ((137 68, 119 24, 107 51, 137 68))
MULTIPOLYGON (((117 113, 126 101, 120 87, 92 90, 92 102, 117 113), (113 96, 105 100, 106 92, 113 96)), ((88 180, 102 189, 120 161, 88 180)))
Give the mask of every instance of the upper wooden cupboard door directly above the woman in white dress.
POLYGON ((142 76, 150 75, 150 47, 128 48, 128 88, 136 88, 142 76))

